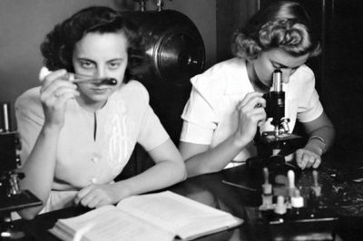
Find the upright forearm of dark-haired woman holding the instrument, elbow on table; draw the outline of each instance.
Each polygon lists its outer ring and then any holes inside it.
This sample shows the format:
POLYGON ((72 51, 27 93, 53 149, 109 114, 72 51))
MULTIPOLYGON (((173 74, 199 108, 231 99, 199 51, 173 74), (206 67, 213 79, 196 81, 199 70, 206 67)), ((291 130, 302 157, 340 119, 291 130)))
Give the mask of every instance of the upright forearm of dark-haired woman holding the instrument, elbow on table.
MULTIPOLYGON (((55 155, 58 146, 59 131, 44 127, 34 144, 22 171, 25 178, 20 182, 22 189, 28 189, 45 204, 54 180, 55 155)), ((22 217, 33 218, 42 208, 31 207, 19 212, 22 217)))

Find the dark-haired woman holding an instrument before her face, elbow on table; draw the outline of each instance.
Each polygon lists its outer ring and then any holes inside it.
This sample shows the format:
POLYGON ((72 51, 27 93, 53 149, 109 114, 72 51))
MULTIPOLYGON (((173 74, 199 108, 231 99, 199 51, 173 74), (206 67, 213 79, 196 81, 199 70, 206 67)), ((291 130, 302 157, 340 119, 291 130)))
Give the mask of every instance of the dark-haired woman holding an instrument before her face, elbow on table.
POLYGON ((41 50, 52 72, 42 86, 15 102, 25 162, 21 187, 44 202, 20 211, 22 217, 74 204, 115 204, 186 177, 182 157, 152 111, 148 92, 130 79, 137 63, 132 52, 140 47, 136 33, 122 14, 92 6, 46 35, 41 50), (136 142, 156 165, 113 182, 136 142))

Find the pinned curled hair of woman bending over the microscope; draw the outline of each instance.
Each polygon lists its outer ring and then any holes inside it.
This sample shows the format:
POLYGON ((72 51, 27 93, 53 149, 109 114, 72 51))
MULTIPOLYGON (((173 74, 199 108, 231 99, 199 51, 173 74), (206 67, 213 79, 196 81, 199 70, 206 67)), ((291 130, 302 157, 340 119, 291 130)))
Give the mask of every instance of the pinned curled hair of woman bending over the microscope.
POLYGON ((309 14, 296 2, 279 1, 260 10, 232 36, 231 51, 252 60, 259 53, 281 48, 292 56, 317 56, 321 46, 309 14))

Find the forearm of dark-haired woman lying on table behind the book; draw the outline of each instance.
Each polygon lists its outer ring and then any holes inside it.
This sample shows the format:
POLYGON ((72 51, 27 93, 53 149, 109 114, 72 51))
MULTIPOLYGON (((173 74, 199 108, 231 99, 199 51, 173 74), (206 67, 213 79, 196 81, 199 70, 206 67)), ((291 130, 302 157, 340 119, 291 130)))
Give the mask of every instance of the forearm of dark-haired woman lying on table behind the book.
POLYGON ((182 161, 165 160, 156 163, 152 168, 141 174, 117 182, 119 200, 153 190, 167 188, 186 178, 186 170, 182 161))

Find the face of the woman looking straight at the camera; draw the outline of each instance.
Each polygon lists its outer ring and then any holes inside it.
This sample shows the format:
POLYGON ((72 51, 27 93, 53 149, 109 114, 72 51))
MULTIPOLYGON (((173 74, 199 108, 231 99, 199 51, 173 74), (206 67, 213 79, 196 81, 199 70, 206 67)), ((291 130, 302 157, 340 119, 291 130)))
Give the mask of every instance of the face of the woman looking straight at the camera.
POLYGON ((80 97, 86 104, 103 104, 120 88, 127 66, 128 42, 122 32, 84 35, 74 46, 74 72, 95 78, 114 78, 116 85, 78 83, 80 97))

